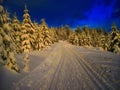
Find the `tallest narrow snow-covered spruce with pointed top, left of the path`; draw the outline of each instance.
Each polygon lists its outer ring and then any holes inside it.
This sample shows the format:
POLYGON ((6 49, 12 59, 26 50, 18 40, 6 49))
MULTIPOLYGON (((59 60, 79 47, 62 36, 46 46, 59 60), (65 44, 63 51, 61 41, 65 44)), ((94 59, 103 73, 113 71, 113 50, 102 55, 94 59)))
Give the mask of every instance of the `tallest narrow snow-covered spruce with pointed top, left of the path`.
POLYGON ((24 53, 24 71, 29 71, 29 52, 31 51, 31 48, 33 49, 32 45, 34 45, 34 29, 33 24, 30 19, 30 16, 28 14, 28 9, 25 5, 24 15, 23 15, 23 22, 22 22, 22 34, 21 34, 21 40, 22 40, 22 51, 24 53))

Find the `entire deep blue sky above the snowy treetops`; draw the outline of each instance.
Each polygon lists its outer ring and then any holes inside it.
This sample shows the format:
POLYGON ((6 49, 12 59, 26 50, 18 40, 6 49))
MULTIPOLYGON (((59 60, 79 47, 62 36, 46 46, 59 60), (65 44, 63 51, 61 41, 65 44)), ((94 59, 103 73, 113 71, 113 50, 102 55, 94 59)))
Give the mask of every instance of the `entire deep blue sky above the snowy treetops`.
POLYGON ((120 25, 120 0, 4 0, 2 4, 22 20, 25 3, 33 21, 45 18, 49 26, 109 28, 112 22, 120 25))

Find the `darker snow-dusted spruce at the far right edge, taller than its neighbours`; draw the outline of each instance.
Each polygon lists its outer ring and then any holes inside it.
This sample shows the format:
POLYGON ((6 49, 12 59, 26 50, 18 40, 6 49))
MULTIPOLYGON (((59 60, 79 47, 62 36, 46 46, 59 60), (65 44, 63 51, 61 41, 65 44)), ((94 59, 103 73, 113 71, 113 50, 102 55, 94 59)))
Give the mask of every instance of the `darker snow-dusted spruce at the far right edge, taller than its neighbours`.
POLYGON ((120 53, 120 32, 117 26, 112 24, 112 32, 109 34, 109 48, 108 50, 114 53, 120 53))

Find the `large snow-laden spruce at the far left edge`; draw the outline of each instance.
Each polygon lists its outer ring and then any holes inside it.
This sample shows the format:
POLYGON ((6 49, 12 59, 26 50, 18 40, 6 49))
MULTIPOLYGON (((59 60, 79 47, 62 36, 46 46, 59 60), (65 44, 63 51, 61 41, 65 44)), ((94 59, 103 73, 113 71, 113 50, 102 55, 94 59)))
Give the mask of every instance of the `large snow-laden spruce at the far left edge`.
MULTIPOLYGON (((0 6, 2 7, 2 6, 0 6)), ((2 7, 3 8, 3 7, 2 7)), ((9 13, 3 10, 0 10, 0 35, 2 50, 1 50, 1 57, 2 57, 2 64, 5 65, 6 68, 19 72, 20 69, 16 63, 16 59, 14 57, 14 47, 15 44, 12 40, 12 26, 10 22, 9 13)))

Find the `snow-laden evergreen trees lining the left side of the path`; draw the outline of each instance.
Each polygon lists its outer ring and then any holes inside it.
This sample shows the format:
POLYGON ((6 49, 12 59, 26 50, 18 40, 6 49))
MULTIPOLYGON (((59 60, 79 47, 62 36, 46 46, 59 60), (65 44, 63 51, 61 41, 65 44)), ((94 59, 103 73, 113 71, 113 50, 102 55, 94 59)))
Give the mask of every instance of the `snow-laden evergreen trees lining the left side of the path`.
POLYGON ((9 12, 0 6, 0 65, 20 72, 15 60, 15 54, 24 54, 25 72, 29 71, 29 53, 34 50, 48 48, 58 41, 56 30, 49 28, 44 19, 41 24, 32 22, 29 10, 25 6, 23 20, 20 22, 14 14, 10 18, 9 12))

